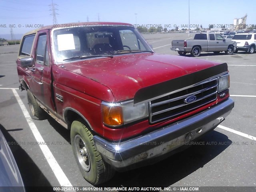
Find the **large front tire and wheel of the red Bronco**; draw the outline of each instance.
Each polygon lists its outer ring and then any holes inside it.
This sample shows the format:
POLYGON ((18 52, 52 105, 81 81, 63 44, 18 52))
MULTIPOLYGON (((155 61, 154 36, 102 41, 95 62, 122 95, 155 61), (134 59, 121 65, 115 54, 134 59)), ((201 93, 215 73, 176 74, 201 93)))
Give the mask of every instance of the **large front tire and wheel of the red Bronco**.
POLYGON ((95 146, 92 133, 82 122, 72 122, 70 137, 76 163, 88 182, 98 185, 114 176, 114 169, 104 162, 95 146))

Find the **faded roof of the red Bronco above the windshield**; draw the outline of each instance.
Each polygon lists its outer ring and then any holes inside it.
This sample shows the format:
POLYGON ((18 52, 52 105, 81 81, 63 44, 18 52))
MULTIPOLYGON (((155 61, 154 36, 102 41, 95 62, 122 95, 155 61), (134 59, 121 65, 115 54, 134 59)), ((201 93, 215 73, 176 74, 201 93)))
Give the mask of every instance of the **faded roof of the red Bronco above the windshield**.
POLYGON ((51 30, 53 28, 72 28, 76 26, 133 26, 129 23, 120 23, 120 22, 77 22, 77 23, 65 23, 65 24, 55 24, 44 26, 42 28, 34 29, 32 31, 26 32, 24 36, 37 33, 42 30, 51 30))

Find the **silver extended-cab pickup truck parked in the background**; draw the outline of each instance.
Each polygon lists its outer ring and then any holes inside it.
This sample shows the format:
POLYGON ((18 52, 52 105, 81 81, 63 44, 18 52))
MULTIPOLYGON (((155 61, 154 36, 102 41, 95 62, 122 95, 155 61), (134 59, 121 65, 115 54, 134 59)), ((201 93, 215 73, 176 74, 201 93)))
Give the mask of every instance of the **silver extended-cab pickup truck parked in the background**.
POLYGON ((217 54, 225 51, 226 54, 232 55, 236 50, 236 42, 226 40, 216 33, 199 33, 194 39, 173 40, 171 50, 178 51, 178 54, 182 56, 191 53, 194 57, 200 56, 201 52, 217 54))

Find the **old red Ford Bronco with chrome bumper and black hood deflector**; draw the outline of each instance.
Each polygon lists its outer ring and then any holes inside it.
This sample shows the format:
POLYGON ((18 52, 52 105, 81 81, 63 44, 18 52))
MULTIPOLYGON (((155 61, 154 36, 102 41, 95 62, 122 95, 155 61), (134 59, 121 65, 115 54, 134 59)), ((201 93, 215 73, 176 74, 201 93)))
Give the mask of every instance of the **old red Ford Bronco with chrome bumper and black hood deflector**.
POLYGON ((234 107, 226 63, 155 54, 131 24, 33 30, 16 63, 31 117, 47 112, 70 129, 76 162, 94 185, 170 156, 234 107))

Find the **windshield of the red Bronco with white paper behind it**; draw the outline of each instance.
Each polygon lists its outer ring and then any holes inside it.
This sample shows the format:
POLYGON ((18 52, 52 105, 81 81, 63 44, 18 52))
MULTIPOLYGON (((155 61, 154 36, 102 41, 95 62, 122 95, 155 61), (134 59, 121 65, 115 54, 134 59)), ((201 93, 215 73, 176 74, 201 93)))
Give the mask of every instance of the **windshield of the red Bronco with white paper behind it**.
POLYGON ((56 62, 152 52, 137 30, 129 26, 63 28, 53 32, 56 62))

